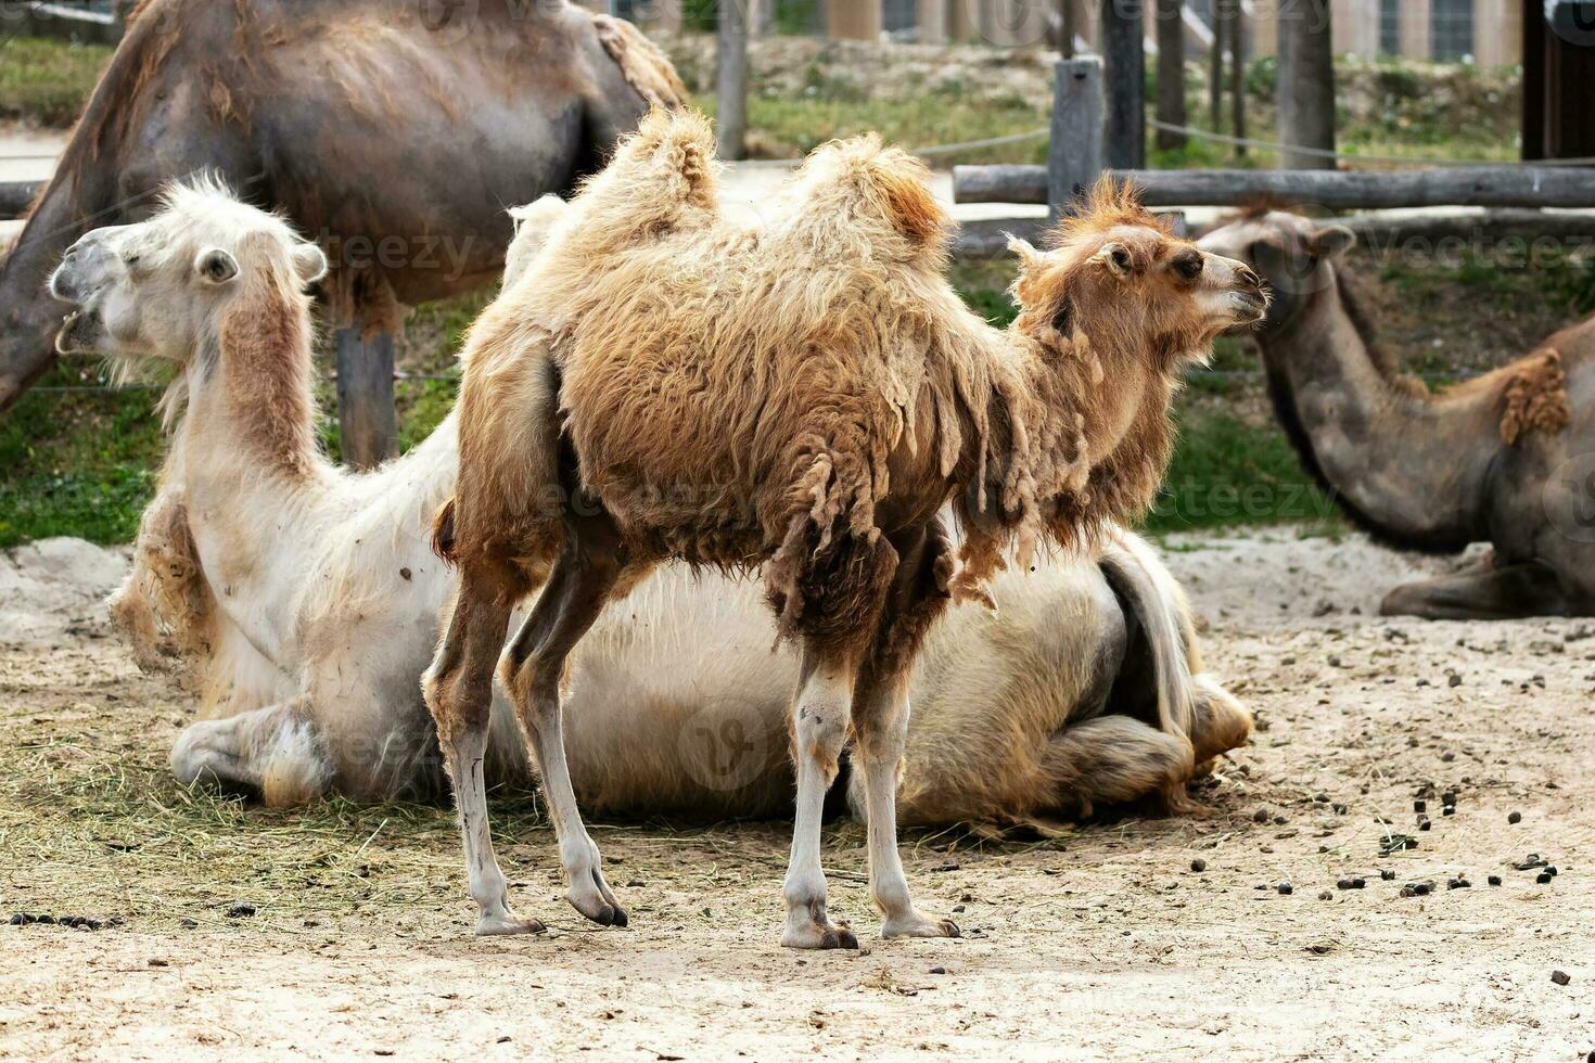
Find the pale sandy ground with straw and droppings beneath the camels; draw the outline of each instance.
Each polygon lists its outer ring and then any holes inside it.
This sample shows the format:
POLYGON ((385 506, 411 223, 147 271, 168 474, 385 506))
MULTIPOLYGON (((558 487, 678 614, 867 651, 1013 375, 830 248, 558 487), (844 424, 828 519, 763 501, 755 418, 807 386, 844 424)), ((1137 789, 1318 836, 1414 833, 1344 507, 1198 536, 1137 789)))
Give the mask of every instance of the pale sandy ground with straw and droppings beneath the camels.
POLYGON ((833 910, 864 931, 858 953, 775 945, 782 824, 600 827, 633 916, 603 931, 560 899, 552 835, 501 818, 515 904, 550 934, 477 940, 447 810, 195 811, 160 773, 180 693, 93 631, 13 631, 0 915, 107 926, 0 926, 0 1057, 1595 1049, 1595 625, 1376 618, 1378 594, 1420 566, 1359 539, 1176 540, 1169 556, 1211 620, 1214 668, 1260 717, 1206 792, 1212 813, 1045 843, 908 838, 922 907, 967 932, 939 942, 872 939, 863 837, 837 826, 833 910), (1416 827, 1420 794, 1431 830, 1416 827), (118 818, 129 803, 144 813, 118 818), (1381 856, 1388 834, 1418 848, 1381 856), (1550 883, 1514 867, 1531 851, 1557 865, 1550 883), (1346 877, 1365 888, 1337 889, 1346 877), (1456 877, 1471 888, 1448 889, 1456 877), (1413 881, 1434 892, 1402 897, 1413 881))

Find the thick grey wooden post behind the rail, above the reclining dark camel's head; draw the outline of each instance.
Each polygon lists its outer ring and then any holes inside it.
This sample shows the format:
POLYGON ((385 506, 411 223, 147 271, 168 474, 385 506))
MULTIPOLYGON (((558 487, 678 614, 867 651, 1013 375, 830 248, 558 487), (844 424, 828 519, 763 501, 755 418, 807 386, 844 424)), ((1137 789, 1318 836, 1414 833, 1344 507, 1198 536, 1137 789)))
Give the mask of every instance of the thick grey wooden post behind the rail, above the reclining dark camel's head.
POLYGON ((1335 159, 1335 49, 1329 0, 1279 0, 1279 140, 1281 166, 1332 171, 1335 159))

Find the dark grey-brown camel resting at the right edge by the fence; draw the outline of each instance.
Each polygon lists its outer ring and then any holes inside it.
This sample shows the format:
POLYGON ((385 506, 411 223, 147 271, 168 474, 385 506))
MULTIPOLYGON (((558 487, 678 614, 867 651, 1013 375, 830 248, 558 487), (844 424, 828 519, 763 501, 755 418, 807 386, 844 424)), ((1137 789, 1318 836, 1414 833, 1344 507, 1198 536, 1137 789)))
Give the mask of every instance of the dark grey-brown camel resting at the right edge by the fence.
POLYGON ((1375 537, 1495 545, 1482 564, 1391 591, 1386 615, 1595 614, 1595 319, 1440 394, 1400 376, 1335 269, 1356 237, 1260 210, 1201 241, 1274 287, 1257 333, 1302 464, 1375 537))

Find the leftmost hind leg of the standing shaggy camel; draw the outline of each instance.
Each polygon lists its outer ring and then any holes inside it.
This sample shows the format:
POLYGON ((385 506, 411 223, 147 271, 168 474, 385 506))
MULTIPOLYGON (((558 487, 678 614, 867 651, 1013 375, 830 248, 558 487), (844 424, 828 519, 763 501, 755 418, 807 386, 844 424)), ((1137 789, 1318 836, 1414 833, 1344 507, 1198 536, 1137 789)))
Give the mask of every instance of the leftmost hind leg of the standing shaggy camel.
POLYGON ((464 567, 437 660, 421 684, 437 720, 443 767, 455 784, 471 897, 480 913, 477 934, 541 934, 544 929, 538 920, 522 920, 509 908, 509 885, 493 853, 482 770, 493 704, 493 663, 504 649, 514 599, 512 582, 464 567))

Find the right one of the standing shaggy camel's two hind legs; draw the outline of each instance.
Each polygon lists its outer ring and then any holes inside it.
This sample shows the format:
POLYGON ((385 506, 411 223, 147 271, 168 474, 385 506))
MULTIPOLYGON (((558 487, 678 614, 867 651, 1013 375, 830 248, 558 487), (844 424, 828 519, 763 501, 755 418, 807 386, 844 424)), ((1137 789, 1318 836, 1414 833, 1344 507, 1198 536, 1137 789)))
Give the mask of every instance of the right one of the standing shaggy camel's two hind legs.
POLYGON ((542 794, 560 840, 565 896, 577 912, 603 926, 625 926, 627 913, 603 878, 598 846, 576 805, 565 759, 560 681, 566 658, 603 612, 622 571, 612 521, 603 515, 581 521, 581 531, 555 561, 547 590, 499 665, 499 677, 538 757, 542 794))

